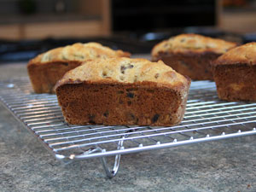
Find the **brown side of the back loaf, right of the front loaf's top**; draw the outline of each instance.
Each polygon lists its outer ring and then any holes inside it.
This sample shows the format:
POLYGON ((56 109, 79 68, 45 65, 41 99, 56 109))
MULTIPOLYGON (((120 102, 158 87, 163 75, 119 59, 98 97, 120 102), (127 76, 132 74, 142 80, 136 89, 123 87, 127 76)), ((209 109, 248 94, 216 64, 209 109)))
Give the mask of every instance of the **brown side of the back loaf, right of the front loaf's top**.
POLYGON ((203 53, 159 53, 157 61, 162 60, 177 73, 189 76, 193 80, 213 80, 212 61, 220 54, 203 53))

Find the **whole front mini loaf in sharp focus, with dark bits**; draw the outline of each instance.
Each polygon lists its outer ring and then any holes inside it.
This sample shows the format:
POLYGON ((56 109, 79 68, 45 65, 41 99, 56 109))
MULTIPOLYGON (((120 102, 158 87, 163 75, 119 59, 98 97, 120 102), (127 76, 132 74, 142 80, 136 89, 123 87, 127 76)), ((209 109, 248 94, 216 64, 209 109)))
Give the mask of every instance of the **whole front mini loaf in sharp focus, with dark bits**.
POLYGON ((110 58, 67 72, 55 92, 75 125, 176 125, 183 119, 190 80, 162 61, 110 58))

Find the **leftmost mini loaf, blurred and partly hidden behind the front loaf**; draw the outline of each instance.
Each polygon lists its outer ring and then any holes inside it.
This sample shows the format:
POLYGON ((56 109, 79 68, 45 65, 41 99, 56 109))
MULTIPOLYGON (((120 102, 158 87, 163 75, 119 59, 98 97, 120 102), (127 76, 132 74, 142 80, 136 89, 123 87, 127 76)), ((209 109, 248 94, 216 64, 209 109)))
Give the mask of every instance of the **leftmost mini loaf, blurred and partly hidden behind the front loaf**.
POLYGON ((127 56, 122 50, 113 50, 102 44, 73 44, 66 47, 51 49, 38 55, 27 65, 27 72, 36 93, 54 93, 56 82, 67 71, 79 67, 83 61, 96 58, 127 56))

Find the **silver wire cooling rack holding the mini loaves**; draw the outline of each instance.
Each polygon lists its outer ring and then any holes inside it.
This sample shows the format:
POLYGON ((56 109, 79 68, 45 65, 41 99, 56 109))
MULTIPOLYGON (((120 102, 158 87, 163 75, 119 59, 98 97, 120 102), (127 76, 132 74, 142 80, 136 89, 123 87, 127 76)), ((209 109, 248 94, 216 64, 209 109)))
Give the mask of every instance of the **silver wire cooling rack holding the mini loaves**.
POLYGON ((256 134, 256 103, 219 101, 209 81, 192 82, 184 119, 172 127, 67 125, 56 96, 34 94, 28 79, 0 82, 0 100, 57 160, 101 157, 108 177, 121 154, 256 134))

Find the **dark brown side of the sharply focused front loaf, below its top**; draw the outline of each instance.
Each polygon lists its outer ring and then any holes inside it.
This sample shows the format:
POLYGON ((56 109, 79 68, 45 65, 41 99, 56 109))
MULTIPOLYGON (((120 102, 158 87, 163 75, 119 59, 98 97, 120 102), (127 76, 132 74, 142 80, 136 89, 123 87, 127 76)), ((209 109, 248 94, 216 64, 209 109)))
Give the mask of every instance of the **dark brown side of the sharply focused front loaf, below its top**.
POLYGON ((188 86, 155 84, 62 84, 56 95, 74 125, 177 125, 183 119, 188 86), (184 94, 185 93, 185 94, 184 94))

